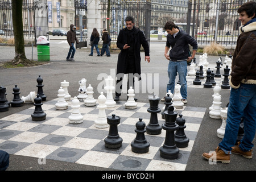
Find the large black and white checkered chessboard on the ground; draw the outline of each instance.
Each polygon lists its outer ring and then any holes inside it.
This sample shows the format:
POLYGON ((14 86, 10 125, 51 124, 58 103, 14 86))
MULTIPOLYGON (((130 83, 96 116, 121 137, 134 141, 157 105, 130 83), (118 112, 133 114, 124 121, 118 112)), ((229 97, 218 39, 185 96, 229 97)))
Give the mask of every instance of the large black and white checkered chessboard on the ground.
MULTIPOLYGON (((94 120, 98 115, 98 104, 88 107, 84 102, 80 102, 80 112, 84 116, 84 121, 80 124, 71 124, 68 119, 72 113, 71 101, 68 101, 67 110, 56 110, 56 102, 57 98, 43 102, 42 109, 47 114, 44 121, 32 121, 31 114, 34 113, 35 106, 0 119, 0 150, 9 154, 39 158, 39 162, 44 161, 46 164, 47 159, 54 159, 124 171, 182 171, 186 167, 206 110, 202 107, 188 106, 176 110, 183 114, 186 120, 185 134, 190 141, 188 147, 180 148, 178 159, 168 160, 161 158, 159 152, 166 137, 165 130, 162 130, 160 135, 145 133, 150 143, 149 152, 146 154, 135 154, 131 151, 130 143, 136 137, 135 123, 139 118, 143 118, 142 121, 147 125, 150 120, 150 113, 147 112, 149 103, 138 102, 137 109, 129 110, 125 109, 124 101, 119 101, 115 107, 106 109, 107 116, 115 114, 121 117, 118 134, 123 139, 121 148, 109 149, 105 148, 104 142, 109 127, 98 129, 94 126, 94 120)), ((163 102, 159 104, 159 108, 162 109, 163 106, 163 102)), ((164 119, 160 113, 158 119, 162 126, 164 119)))

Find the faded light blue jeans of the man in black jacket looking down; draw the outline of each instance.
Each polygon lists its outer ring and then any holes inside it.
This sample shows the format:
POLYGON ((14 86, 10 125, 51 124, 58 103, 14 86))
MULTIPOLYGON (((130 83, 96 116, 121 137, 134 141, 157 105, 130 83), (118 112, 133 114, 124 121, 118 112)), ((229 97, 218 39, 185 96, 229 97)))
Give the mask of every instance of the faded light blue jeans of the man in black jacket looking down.
POLYGON ((179 74, 179 80, 180 80, 180 94, 182 98, 187 99, 187 60, 185 61, 169 61, 168 64, 168 77, 169 82, 167 84, 167 92, 168 90, 171 90, 171 93, 174 93, 175 88, 175 78, 177 76, 177 73, 179 74))

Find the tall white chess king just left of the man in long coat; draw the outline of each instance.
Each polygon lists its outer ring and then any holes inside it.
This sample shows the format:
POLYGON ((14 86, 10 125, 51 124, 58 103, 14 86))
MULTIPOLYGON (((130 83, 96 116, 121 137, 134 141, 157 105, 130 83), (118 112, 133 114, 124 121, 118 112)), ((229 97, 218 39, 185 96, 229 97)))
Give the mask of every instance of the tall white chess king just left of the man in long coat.
POLYGON ((106 86, 104 87, 104 90, 106 90, 106 106, 109 107, 115 107, 116 102, 113 99, 113 91, 115 89, 113 85, 114 79, 111 75, 108 76, 108 78, 105 78, 106 86))

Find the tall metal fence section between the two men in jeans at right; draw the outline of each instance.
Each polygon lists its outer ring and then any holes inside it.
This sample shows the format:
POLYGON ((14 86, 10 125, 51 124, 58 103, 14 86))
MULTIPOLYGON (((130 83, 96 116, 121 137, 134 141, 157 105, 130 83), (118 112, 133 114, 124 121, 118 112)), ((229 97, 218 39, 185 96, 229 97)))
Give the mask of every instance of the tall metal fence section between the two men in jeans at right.
POLYGON ((238 38, 241 21, 238 8, 247 1, 193 1, 188 3, 188 21, 192 26, 187 32, 196 38, 199 45, 213 41, 222 46, 234 46, 238 38))

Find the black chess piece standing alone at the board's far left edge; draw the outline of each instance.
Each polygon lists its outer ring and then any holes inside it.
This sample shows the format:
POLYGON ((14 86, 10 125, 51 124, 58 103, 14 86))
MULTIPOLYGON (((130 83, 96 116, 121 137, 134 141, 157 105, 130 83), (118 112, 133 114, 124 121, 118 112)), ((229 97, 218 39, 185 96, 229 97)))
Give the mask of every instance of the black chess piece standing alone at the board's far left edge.
POLYGON ((36 94, 36 98, 35 98, 35 110, 34 113, 31 114, 32 117, 32 121, 43 121, 46 119, 46 113, 44 113, 43 109, 42 109, 42 98, 39 97, 39 94, 36 94))

